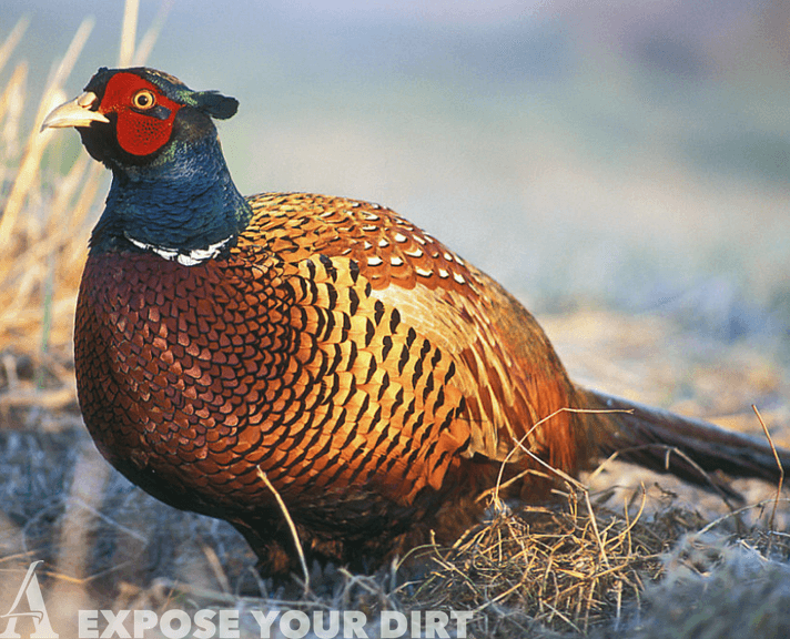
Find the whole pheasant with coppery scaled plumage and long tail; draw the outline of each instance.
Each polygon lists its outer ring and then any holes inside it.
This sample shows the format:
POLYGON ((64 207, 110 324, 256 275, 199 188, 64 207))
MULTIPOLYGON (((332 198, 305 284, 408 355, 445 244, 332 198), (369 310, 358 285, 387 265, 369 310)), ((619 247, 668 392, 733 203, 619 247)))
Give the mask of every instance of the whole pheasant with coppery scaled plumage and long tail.
POLYGON ((757 440, 574 385, 515 297, 389 209, 240 195, 212 121, 236 109, 102 68, 42 129, 77 128, 112 171, 75 316, 85 425, 134 484, 235 526, 263 574, 298 565, 277 498, 308 558, 364 569, 452 540, 498 478, 543 500, 616 452, 778 478, 757 440))

